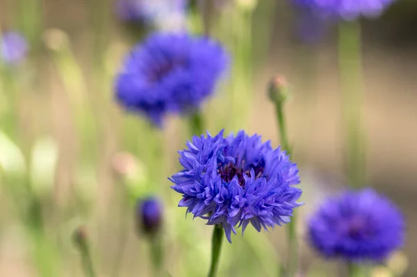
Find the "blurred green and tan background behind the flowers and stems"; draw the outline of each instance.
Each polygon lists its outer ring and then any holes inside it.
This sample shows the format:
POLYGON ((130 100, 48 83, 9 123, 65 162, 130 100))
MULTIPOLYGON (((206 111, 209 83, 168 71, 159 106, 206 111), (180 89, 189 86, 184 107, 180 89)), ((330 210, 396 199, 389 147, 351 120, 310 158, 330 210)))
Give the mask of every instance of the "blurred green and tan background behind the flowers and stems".
MULTIPOLYGON (((0 276, 37 276, 42 262, 54 267, 56 274, 49 276, 83 276, 71 240, 80 224, 87 227, 99 276, 148 276, 148 244, 134 224, 134 201, 147 194, 164 199, 167 271, 206 274, 212 226, 185 219, 167 180, 179 169, 177 150, 190 138, 186 120, 169 118, 159 130, 113 101, 124 55, 149 32, 122 22, 114 5, 0 0, 1 30, 21 31, 30 45, 28 58, 11 70, 12 85, 3 79, 0 93, 0 116, 13 114, 0 126, 0 276), (15 137, 6 133, 10 126, 17 128, 15 137), (155 159, 161 153, 163 158, 155 159), (10 185, 17 191, 28 185, 40 199, 47 234, 41 247, 16 210, 15 203, 28 196, 19 194, 16 201, 10 185), (33 253, 44 258, 33 259, 33 253)), ((343 276, 338 262, 322 261, 309 249, 302 224, 323 197, 346 185, 336 24, 311 22, 285 0, 216 5, 210 33, 233 62, 204 105, 207 129, 245 128, 277 146, 266 89, 272 76, 288 79, 293 87, 288 130, 306 202, 300 208, 302 272, 343 276)), ((198 13, 190 12, 186 20, 190 30, 202 28, 198 13)), ((399 0, 382 17, 361 20, 361 26, 368 184, 398 203, 407 218, 404 249, 373 276, 417 276, 417 2, 399 0)), ((284 228, 270 233, 248 228, 245 237, 236 235, 233 244, 223 246, 220 276, 276 276, 285 237, 284 228)))

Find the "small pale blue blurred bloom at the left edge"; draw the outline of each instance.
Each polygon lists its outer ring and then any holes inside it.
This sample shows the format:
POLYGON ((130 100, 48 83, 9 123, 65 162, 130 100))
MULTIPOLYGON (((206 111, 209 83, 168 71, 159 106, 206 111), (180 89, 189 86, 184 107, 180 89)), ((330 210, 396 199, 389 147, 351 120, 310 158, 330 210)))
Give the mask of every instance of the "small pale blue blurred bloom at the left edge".
POLYGON ((1 60, 8 65, 15 65, 24 58, 28 52, 25 38, 16 32, 6 32, 0 38, 1 60))

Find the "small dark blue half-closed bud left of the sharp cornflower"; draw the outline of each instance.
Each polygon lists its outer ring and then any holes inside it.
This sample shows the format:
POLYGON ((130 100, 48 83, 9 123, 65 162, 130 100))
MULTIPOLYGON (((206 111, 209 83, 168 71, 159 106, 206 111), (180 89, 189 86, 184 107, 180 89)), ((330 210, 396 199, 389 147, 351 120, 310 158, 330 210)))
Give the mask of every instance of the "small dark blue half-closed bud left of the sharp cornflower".
POLYGON ((147 235, 154 235, 161 230, 163 221, 163 205, 155 197, 139 200, 136 207, 138 229, 147 235))

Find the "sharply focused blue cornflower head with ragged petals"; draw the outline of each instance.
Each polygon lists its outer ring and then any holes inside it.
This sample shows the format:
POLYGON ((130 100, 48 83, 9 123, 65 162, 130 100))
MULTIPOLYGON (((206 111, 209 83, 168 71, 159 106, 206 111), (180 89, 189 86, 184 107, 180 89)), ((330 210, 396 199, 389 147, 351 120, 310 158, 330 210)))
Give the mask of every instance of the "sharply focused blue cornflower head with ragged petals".
POLYGON ((302 190, 297 165, 285 151, 272 149, 261 136, 240 131, 223 137, 223 131, 212 137, 194 136, 179 151, 183 170, 170 180, 172 189, 182 194, 179 207, 187 213, 207 219, 207 224, 222 224, 227 240, 235 227, 252 224, 262 228, 281 226, 291 221, 293 208, 302 190))

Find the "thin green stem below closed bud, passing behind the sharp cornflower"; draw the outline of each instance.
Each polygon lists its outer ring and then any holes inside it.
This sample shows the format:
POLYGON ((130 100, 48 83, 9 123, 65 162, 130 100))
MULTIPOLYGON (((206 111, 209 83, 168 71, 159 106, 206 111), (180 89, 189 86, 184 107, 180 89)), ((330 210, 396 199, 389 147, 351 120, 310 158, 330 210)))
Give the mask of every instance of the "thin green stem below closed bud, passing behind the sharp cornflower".
MULTIPOLYGON (((286 132, 286 120, 284 115, 285 101, 277 100, 275 102, 275 112, 277 115, 277 122, 279 128, 279 137, 281 140, 282 150, 291 156, 292 149, 288 142, 286 132)), ((298 267, 298 243, 297 243, 297 221, 295 217, 295 210, 293 211, 293 218, 288 223, 288 261, 286 266, 286 274, 284 276, 293 277, 297 273, 298 267)), ((280 269, 281 271, 281 269, 280 269)), ((281 274, 282 275, 282 274, 281 274)))

